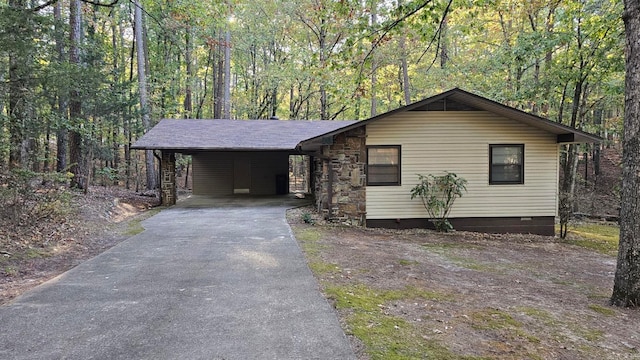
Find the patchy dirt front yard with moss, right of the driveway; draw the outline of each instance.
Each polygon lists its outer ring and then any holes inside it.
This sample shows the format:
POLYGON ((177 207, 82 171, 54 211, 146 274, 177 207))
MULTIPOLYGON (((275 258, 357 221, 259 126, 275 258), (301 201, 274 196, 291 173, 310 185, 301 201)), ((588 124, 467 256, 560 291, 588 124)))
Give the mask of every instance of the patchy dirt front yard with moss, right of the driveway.
POLYGON ((289 221, 360 359, 640 359, 640 312, 608 306, 613 256, 542 236, 314 226, 305 211, 289 221))

